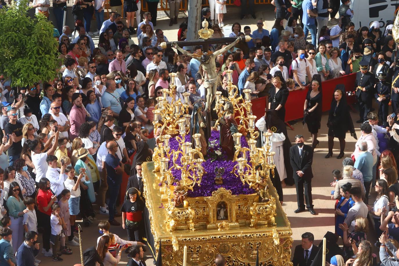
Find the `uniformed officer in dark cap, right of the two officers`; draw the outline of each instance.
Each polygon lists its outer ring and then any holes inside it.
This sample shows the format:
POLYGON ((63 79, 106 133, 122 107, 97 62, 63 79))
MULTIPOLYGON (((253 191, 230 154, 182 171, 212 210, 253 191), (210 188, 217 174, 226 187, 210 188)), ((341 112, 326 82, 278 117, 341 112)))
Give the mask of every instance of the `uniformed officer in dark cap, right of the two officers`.
POLYGON ((387 83, 386 78, 386 73, 378 74, 379 82, 375 85, 377 92, 374 95, 379 104, 378 119, 383 123, 383 126, 387 126, 388 106, 389 100, 391 100, 391 86, 387 83))

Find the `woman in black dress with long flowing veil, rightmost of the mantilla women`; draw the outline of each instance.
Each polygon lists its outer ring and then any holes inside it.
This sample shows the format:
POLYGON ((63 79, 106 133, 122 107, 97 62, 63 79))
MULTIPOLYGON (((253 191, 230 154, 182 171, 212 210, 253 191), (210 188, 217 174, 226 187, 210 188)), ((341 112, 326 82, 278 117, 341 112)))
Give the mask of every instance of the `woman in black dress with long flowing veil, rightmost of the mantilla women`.
POLYGON ((349 130, 351 136, 356 140, 356 132, 353 126, 352 117, 350 116, 348 104, 346 103, 345 86, 338 84, 334 90, 334 98, 331 102, 330 112, 328 114, 328 154, 326 158, 332 156, 332 148, 334 147, 334 138, 340 140, 340 154, 337 159, 344 157, 345 135, 349 130))

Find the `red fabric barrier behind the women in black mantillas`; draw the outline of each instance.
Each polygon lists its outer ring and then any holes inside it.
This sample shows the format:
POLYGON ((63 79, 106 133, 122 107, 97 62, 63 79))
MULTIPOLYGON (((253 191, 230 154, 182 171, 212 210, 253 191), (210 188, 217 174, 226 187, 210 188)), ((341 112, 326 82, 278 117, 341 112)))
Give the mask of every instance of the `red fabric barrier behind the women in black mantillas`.
MULTIPOLYGON (((336 79, 330 79, 328 81, 323 81, 323 102, 322 110, 323 112, 330 110, 331 100, 333 97, 333 92, 338 84, 344 84, 346 91, 353 91, 355 87, 356 74, 350 74, 336 79)), ((285 104, 285 120, 292 121, 300 119, 303 117, 303 104, 305 102, 306 94, 308 93, 308 86, 305 90, 290 91, 288 95, 287 102, 285 104)), ((355 97, 348 97, 348 103, 352 104, 355 101, 355 97)), ((252 100, 252 112, 257 117, 260 118, 265 114, 265 108, 269 104, 266 102, 266 98, 262 97, 259 99, 252 100)))

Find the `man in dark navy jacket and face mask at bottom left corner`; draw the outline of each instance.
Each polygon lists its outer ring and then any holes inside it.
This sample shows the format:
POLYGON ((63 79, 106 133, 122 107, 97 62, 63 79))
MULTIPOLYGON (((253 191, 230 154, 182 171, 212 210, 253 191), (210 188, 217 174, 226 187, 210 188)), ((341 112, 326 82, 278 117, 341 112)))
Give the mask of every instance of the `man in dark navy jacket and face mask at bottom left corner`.
POLYGON ((39 254, 38 233, 28 231, 25 241, 18 248, 17 265, 35 265, 35 257, 39 254))

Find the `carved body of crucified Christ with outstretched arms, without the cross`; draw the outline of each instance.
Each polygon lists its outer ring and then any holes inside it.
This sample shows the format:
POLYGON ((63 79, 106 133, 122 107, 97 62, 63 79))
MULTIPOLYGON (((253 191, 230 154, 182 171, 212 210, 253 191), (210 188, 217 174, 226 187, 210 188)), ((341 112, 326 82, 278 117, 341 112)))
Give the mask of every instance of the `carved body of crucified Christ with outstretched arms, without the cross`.
POLYGON ((202 69, 204 71, 204 82, 203 82, 203 85, 204 85, 204 87, 205 87, 205 89, 207 91, 207 93, 206 93, 205 110, 207 110, 208 112, 210 112, 211 103, 216 97, 217 80, 219 78, 217 76, 217 73, 216 73, 215 58, 218 55, 220 55, 221 53, 224 53, 227 50, 229 50, 231 47, 233 47, 240 40, 241 40, 241 37, 238 37, 234 42, 230 43, 226 47, 224 47, 224 48, 222 48, 220 50, 217 50, 217 51, 215 51, 213 53, 208 51, 206 53, 203 53, 202 55, 199 55, 199 54, 196 54, 196 53, 189 53, 188 51, 183 50, 182 48, 180 48, 179 45, 177 45, 177 43, 175 43, 175 42, 172 43, 172 47, 176 48, 178 51, 182 52, 184 55, 188 55, 191 58, 201 57, 198 60, 201 62, 202 69))

